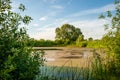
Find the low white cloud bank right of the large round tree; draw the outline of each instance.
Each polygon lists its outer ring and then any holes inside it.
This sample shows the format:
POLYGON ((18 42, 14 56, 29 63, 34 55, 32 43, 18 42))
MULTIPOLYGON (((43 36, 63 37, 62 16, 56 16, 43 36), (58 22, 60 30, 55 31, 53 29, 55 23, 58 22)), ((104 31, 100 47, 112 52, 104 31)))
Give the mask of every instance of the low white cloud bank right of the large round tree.
POLYGON ((85 21, 74 21, 71 22, 72 25, 79 27, 83 32, 85 38, 93 37, 94 39, 100 39, 104 31, 104 24, 107 23, 106 20, 85 20, 85 21))

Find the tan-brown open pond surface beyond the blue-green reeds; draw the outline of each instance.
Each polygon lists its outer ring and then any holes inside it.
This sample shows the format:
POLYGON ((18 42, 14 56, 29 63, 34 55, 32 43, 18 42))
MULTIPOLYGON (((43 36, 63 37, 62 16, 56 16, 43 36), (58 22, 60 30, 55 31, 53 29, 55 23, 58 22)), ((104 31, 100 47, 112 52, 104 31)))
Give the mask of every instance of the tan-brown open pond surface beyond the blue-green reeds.
POLYGON ((46 65, 48 66, 85 66, 88 58, 92 56, 92 49, 47 47, 45 49, 46 65), (47 49, 49 48, 49 49, 47 49))

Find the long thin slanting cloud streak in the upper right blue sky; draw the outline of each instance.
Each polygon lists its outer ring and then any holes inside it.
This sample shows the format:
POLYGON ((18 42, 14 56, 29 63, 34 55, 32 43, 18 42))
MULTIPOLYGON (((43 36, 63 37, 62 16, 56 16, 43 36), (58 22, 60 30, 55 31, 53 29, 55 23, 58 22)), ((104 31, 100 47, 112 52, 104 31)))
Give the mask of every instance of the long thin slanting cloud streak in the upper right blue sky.
POLYGON ((106 12, 108 10, 114 11, 115 10, 114 4, 108 4, 108 5, 103 6, 101 8, 81 11, 81 12, 78 12, 78 13, 74 13, 74 14, 72 14, 70 16, 76 17, 76 16, 83 16, 83 15, 89 15, 89 14, 95 14, 95 13, 103 13, 103 12, 106 12))

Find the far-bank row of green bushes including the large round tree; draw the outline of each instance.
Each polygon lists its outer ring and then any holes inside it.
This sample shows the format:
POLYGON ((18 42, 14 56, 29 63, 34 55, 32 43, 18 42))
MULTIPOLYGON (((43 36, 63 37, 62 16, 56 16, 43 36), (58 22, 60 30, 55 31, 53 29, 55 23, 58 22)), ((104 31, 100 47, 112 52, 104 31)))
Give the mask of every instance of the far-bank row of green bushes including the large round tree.
POLYGON ((31 38, 28 41, 28 46, 33 47, 51 47, 51 46, 79 46, 87 47, 89 41, 93 41, 90 37, 88 40, 84 39, 84 35, 80 28, 70 24, 63 24, 61 27, 55 29, 55 40, 35 40, 31 38))

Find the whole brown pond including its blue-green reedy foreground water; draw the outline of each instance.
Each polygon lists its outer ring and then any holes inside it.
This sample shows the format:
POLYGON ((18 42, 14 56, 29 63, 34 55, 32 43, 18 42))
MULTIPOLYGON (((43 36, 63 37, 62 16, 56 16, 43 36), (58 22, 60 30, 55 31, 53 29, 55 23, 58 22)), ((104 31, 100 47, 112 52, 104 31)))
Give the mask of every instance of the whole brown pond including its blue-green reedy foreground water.
MULTIPOLYGON (((93 54, 93 49, 79 47, 39 47, 36 49, 45 51, 46 63, 45 66, 40 68, 42 75, 62 77, 65 80, 72 80, 73 78, 73 80, 81 80, 83 77, 81 74, 83 69, 81 68, 89 66, 93 54)), ((87 72, 87 69, 84 69, 84 71, 87 72)))

